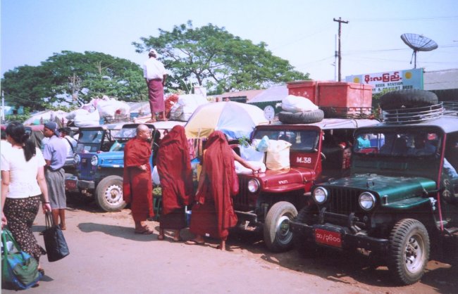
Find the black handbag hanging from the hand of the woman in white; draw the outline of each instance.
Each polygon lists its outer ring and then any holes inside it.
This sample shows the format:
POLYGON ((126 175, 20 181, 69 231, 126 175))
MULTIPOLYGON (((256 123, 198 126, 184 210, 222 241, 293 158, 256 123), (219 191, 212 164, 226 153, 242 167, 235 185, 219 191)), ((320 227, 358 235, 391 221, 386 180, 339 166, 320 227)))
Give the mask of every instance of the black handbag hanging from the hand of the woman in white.
POLYGON ((51 212, 46 213, 46 229, 42 234, 49 262, 56 262, 70 254, 66 238, 63 237, 61 227, 54 224, 51 212))

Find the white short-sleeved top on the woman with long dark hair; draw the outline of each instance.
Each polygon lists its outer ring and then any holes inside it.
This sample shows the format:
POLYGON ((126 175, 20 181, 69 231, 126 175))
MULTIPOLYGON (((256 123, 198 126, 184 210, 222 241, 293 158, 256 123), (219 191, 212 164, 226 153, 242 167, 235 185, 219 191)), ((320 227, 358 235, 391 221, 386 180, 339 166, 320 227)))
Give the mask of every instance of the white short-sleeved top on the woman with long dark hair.
POLYGON ((1 170, 10 172, 8 198, 27 198, 42 193, 38 186, 38 167, 46 165, 42 151, 36 148, 37 154, 25 161, 22 148, 7 148, 1 151, 1 170))

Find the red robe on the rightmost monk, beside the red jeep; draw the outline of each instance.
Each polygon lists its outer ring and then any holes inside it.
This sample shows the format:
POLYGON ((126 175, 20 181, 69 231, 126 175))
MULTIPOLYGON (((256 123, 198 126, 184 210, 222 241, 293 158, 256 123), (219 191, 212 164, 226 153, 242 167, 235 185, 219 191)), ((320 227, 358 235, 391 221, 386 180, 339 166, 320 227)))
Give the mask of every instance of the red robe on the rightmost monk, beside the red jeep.
POLYGON ((228 229, 237 224, 232 196, 238 182, 233 151, 222 132, 211 133, 202 162, 204 168, 200 177, 205 177, 204 185, 196 200, 203 204, 192 207, 190 231, 225 240, 228 229))

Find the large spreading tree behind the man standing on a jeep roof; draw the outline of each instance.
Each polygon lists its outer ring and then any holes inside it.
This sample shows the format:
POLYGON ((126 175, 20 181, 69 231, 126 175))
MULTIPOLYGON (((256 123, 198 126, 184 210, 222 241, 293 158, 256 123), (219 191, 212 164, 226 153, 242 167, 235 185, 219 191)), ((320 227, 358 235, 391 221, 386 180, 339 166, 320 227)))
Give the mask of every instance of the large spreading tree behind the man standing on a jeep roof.
POLYGON ((136 51, 156 49, 159 59, 172 72, 167 83, 171 89, 185 89, 190 79, 214 94, 309 79, 309 74, 298 72, 287 60, 273 56, 266 43, 253 44, 224 27, 209 24, 194 28, 188 21, 173 27, 171 32, 159 29, 159 37, 140 40, 132 43, 136 51))

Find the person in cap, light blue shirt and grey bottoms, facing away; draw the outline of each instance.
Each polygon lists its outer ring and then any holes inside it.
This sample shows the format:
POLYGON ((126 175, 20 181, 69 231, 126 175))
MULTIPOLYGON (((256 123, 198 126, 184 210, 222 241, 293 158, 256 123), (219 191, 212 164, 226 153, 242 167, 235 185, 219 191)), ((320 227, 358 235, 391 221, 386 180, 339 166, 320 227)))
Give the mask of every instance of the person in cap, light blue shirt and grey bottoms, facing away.
POLYGON ((44 177, 48 185, 49 201, 54 224, 60 224, 61 229, 66 229, 66 191, 65 171, 63 165, 66 163, 67 144, 59 136, 56 122, 44 124, 43 134, 49 138, 44 146, 43 157, 46 162, 44 177), (59 223, 58 220, 61 219, 59 223))

